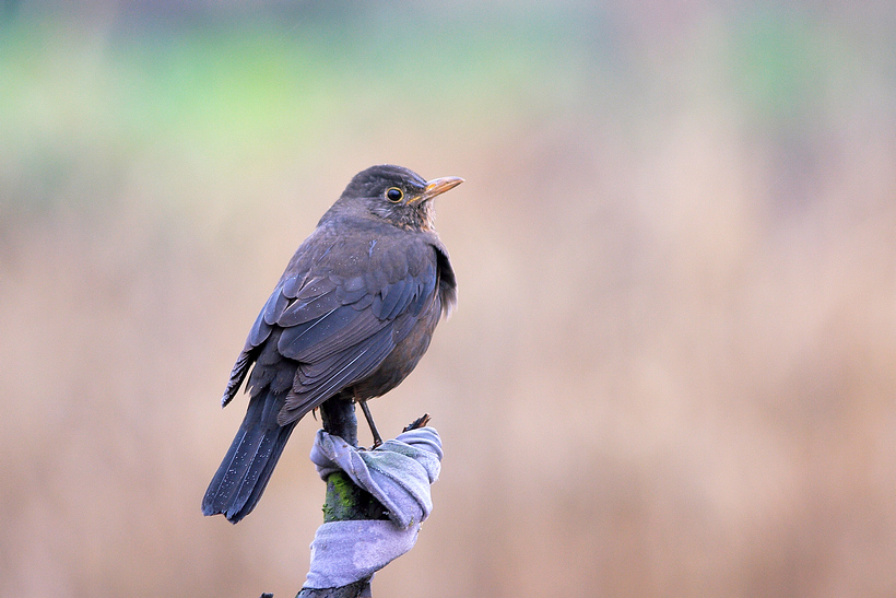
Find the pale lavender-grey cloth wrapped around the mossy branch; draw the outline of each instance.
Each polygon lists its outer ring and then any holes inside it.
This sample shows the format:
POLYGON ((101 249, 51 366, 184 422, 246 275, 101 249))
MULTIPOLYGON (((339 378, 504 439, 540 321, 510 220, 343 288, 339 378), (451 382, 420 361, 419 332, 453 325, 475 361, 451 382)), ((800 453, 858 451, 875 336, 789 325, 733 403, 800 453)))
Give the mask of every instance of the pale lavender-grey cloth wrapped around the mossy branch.
POLYGON ((438 479, 441 456, 441 439, 434 427, 404 432, 374 450, 358 449, 319 430, 311 461, 321 479, 345 471, 386 507, 390 520, 321 525, 311 542, 305 587, 331 588, 357 582, 411 550, 420 524, 433 511, 429 484, 438 479))

